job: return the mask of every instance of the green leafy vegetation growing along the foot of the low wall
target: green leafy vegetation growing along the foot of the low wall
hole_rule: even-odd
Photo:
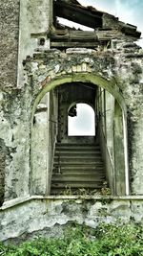
[[[143,228],[139,224],[102,224],[96,229],[71,225],[62,239],[36,239],[19,245],[0,244],[7,256],[141,256]]]

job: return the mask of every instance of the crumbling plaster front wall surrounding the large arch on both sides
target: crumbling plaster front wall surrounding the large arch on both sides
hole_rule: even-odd
[[[127,49],[133,54],[126,53]],[[24,88],[1,94],[0,138],[9,152],[5,160],[5,200],[29,194],[31,115],[36,105],[51,88],[72,81],[101,85],[111,90],[120,103],[125,99],[132,193],[143,194],[142,57],[136,46],[122,42],[117,49],[108,52],[49,50],[27,58]]]

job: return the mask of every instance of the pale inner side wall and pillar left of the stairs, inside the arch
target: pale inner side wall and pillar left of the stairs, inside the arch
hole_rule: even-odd
[[[31,195],[49,195],[57,134],[57,93],[46,93],[31,124]]]

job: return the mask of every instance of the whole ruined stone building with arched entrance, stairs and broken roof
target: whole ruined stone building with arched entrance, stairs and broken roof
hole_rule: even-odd
[[[76,0],[1,0],[0,18],[0,240],[142,221],[140,32]],[[68,132],[78,104],[92,136]]]

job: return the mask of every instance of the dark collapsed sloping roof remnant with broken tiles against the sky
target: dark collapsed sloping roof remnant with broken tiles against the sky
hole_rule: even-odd
[[[132,24],[126,24],[107,12],[100,12],[93,7],[84,7],[77,0],[54,0],[54,16],[62,17],[94,30],[116,29],[124,35],[139,38],[141,33]]]

